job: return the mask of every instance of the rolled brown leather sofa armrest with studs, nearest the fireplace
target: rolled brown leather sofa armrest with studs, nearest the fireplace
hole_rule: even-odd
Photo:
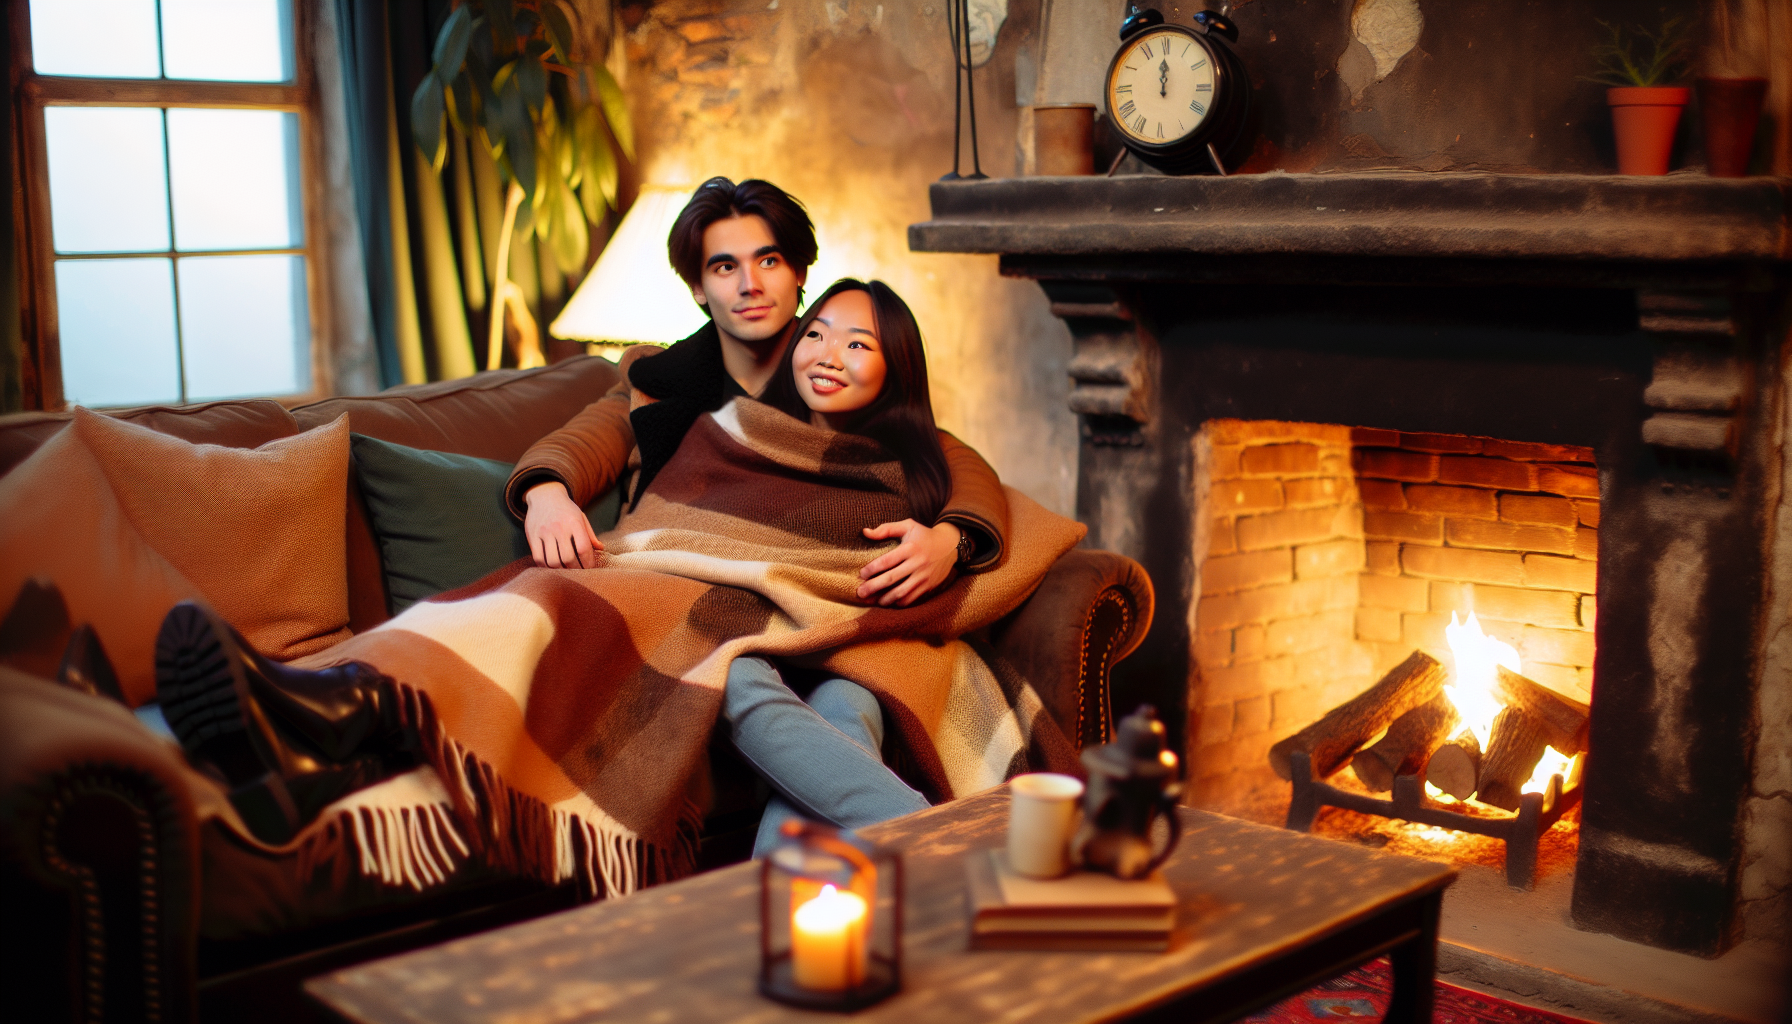
[[[1154,601],[1140,563],[1079,547],[989,629],[989,644],[1032,683],[1070,742],[1095,746],[1113,732],[1109,673],[1145,638]]]

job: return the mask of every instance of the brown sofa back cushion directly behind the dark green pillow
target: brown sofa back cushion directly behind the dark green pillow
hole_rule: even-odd
[[[382,441],[514,463],[618,380],[607,359],[586,355],[538,369],[498,369],[462,380],[392,387],[366,398],[326,398],[292,411],[299,427],[348,414],[349,429]]]

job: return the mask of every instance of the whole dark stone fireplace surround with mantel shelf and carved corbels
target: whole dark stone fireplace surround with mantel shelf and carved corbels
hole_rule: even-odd
[[[1776,628],[1762,595],[1783,561],[1765,524],[1781,515],[1788,192],[1702,174],[953,181],[932,187],[909,244],[998,255],[1070,328],[1077,518],[1159,594],[1116,699],[1186,710],[1172,728],[1188,764],[1197,742],[1263,762],[1256,746],[1305,725],[1272,710],[1249,735],[1199,739],[1208,708],[1263,705],[1215,696],[1233,683],[1195,647],[1219,592],[1208,423],[1591,452],[1604,511],[1597,615],[1579,620],[1597,694],[1573,920],[1713,956],[1742,931],[1744,807],[1769,742],[1754,699]],[[1321,685],[1292,678],[1272,708]]]

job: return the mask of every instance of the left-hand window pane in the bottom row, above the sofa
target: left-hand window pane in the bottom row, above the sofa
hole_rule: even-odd
[[[63,395],[75,405],[181,400],[167,256],[57,260]]]

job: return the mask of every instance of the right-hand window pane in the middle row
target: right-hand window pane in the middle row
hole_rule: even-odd
[[[299,117],[170,109],[174,240],[190,249],[283,249],[299,228]]]

